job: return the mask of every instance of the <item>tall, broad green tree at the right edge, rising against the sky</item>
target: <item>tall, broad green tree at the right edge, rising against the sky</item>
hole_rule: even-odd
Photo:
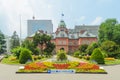
[[[116,19],[107,19],[101,23],[98,36],[100,44],[106,40],[120,44],[120,24],[118,24]]]

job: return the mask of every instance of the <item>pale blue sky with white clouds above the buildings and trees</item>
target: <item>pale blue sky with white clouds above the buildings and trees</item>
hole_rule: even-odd
[[[27,36],[27,20],[49,19],[56,31],[64,14],[67,28],[75,25],[100,25],[108,18],[120,22],[120,0],[0,0],[0,30],[8,36],[14,31]]]

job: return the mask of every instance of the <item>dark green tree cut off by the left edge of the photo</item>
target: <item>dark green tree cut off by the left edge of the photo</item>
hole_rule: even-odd
[[[6,51],[6,45],[5,45],[5,36],[4,34],[0,31],[0,54],[4,53]]]

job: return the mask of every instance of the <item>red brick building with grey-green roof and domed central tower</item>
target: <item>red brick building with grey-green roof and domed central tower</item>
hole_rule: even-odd
[[[39,30],[38,32],[43,33],[43,31],[41,30]],[[64,48],[66,52],[74,52],[82,44],[90,44],[92,42],[97,41],[97,36],[88,33],[87,30],[81,30],[79,32],[70,32],[66,28],[66,24],[63,20],[60,21],[56,32],[48,35],[51,35],[51,42],[53,42],[56,46],[55,51]],[[34,35],[28,38],[32,40],[33,36]]]

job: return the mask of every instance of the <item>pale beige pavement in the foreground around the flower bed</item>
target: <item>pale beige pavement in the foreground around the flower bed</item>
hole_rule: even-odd
[[[120,80],[120,65],[103,67],[108,74],[16,74],[19,66],[0,63],[0,80]]]

